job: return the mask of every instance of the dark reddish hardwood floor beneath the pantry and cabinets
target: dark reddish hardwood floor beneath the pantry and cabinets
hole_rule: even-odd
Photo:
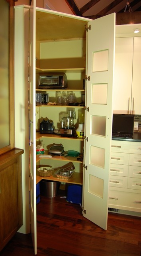
[[[16,233],[0,253],[9,255],[34,255],[30,234]],[[37,204],[37,255],[141,256],[141,218],[109,213],[105,231],[84,218],[78,204],[60,195],[41,196]]]

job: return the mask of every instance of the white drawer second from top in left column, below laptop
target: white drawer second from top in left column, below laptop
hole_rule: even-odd
[[[111,152],[111,164],[129,164],[129,154]]]

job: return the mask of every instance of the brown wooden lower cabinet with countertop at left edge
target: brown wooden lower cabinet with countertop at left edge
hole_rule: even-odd
[[[23,224],[22,154],[14,149],[0,156],[0,250]]]

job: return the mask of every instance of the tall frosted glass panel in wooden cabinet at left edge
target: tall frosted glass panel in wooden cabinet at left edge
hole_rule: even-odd
[[[0,148],[10,145],[9,3],[0,1]]]

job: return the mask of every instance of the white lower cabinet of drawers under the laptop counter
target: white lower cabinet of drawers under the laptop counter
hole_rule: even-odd
[[[141,143],[112,140],[111,151],[109,208],[141,216]]]

